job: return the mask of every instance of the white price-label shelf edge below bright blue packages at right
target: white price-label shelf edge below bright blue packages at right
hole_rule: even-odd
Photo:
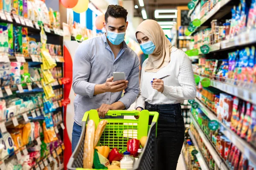
[[[205,77],[200,76],[200,79]],[[256,90],[211,79],[211,86],[256,105]]]

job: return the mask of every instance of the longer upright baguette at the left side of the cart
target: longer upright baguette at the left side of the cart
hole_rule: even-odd
[[[89,120],[86,126],[85,138],[84,138],[84,168],[92,169],[93,168],[93,156],[94,156],[94,142],[95,136],[95,123],[93,120]]]

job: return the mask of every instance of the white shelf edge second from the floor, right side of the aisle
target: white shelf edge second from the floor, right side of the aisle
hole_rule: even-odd
[[[199,135],[201,136],[204,144],[206,145],[207,149],[209,150],[209,153],[211,153],[212,158],[215,160],[217,166],[221,169],[221,170],[228,170],[229,168],[226,166],[226,164],[224,163],[224,161],[221,159],[221,157],[219,156],[219,154],[217,153],[217,151],[215,150],[215,148],[212,146],[211,142],[209,142],[207,136],[205,136],[204,132],[201,130],[200,126],[198,125],[197,121],[195,120],[194,116],[192,115],[192,113],[189,113],[189,116],[193,122],[193,124],[195,125],[195,128],[198,130]]]

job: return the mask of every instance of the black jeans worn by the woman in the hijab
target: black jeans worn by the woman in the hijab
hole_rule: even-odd
[[[180,103],[172,105],[151,105],[145,109],[157,111],[157,170],[176,170],[184,141],[184,119]],[[152,117],[149,118],[151,124]]]

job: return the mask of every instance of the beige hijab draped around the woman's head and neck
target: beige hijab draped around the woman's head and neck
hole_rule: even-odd
[[[157,72],[169,64],[171,58],[172,44],[165,36],[163,29],[155,20],[145,20],[138,26],[137,32],[145,34],[151,40],[156,48],[148,56],[148,62],[145,66],[146,72]]]

